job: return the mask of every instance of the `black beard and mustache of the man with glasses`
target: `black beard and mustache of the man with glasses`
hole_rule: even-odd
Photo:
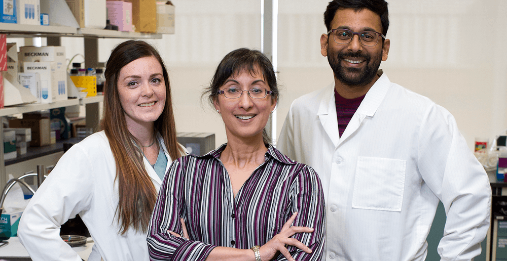
[[[365,60],[366,66],[364,68],[343,68],[341,64],[343,57],[362,58]],[[338,53],[333,56],[328,49],[328,62],[335,77],[340,82],[351,86],[364,86],[370,83],[375,78],[381,61],[382,53],[373,58],[368,54],[359,53]]]

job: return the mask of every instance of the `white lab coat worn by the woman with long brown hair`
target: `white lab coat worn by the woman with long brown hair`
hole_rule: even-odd
[[[168,160],[167,171],[172,160],[162,138],[158,138]],[[144,167],[158,192],[162,181],[146,158]],[[148,260],[145,233],[130,228],[124,235],[119,234],[115,177],[115,159],[103,131],[71,147],[21,216],[18,236],[31,259],[81,261],[59,235],[60,224],[79,214],[95,242],[90,256],[107,261]]]

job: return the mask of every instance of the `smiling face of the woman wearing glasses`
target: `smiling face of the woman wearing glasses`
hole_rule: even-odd
[[[258,73],[259,71],[256,68],[255,73],[250,73],[248,70],[233,73],[220,90],[235,87],[243,91],[252,88],[264,88],[270,91],[269,85],[265,82],[262,73]],[[243,141],[259,139],[262,142],[262,130],[268,122],[269,114],[275,109],[276,100],[269,94],[265,98],[254,99],[248,95],[248,92],[244,92],[236,99],[226,98],[220,94],[214,99],[213,104],[224,120],[228,142],[233,139]]]

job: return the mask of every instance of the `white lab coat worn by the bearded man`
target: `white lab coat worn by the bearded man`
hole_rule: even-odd
[[[317,171],[327,208],[322,260],[424,260],[439,200],[442,260],[480,254],[491,188],[454,117],[385,73],[342,137],[334,83],[295,100],[277,148]]]

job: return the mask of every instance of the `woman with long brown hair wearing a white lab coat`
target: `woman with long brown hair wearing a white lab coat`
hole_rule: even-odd
[[[148,260],[145,241],[162,179],[183,156],[169,77],[144,41],[120,43],[106,64],[102,131],[71,147],[30,200],[18,235],[33,260],[81,260],[59,236],[79,213],[88,260]]]

